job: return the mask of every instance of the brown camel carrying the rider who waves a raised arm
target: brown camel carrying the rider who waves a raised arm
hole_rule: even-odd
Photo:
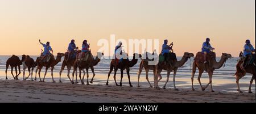
[[[38,75],[39,75],[40,82],[44,82],[44,78],[46,77],[47,70],[49,69],[49,67],[51,67],[52,82],[55,82],[53,79],[53,69],[54,69],[54,66],[57,65],[61,61],[61,57],[63,57],[63,56],[64,56],[64,53],[57,53],[57,57],[55,59],[55,57],[51,54],[51,58],[48,62],[40,62],[40,61],[38,62],[38,67],[36,69],[36,73],[39,70]],[[41,77],[40,77],[40,73],[44,66],[46,67],[46,72],[44,73],[44,78],[42,81]]]

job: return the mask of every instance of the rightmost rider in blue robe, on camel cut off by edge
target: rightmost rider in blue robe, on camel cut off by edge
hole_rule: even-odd
[[[250,40],[245,41],[245,46],[243,46],[243,64],[242,64],[242,70],[245,71],[245,67],[248,63],[248,61],[251,58],[252,52],[255,52],[255,49],[253,48],[253,45],[251,45]]]

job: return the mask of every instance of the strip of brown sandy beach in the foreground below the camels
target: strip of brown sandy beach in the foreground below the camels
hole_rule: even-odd
[[[255,93],[0,80],[0,102],[255,102]]]

